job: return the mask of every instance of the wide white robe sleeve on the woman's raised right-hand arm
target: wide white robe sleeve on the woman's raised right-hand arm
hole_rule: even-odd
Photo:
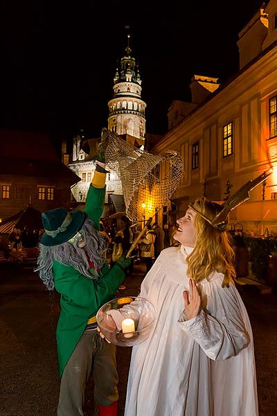
[[[230,288],[222,288],[221,284],[222,279],[215,279],[202,285],[206,309],[190,320],[183,312],[178,320],[181,329],[199,344],[204,353],[218,361],[238,355],[250,341],[235,287],[231,284]],[[206,293],[203,293],[203,288]]]

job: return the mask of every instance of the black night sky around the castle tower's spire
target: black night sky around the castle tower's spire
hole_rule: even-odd
[[[148,105],[146,131],[163,134],[172,101],[190,101],[193,74],[224,83],[238,71],[238,33],[262,1],[0,4],[0,128],[48,132],[60,142],[79,128],[98,137],[107,126],[126,25]]]

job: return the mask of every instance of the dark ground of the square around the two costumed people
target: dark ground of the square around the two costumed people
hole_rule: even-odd
[[[144,266],[136,264],[117,296],[138,295],[144,272]],[[277,293],[261,295],[251,286],[238,289],[254,334],[260,416],[275,416]],[[59,311],[57,295],[46,291],[32,267],[0,264],[0,416],[55,415],[60,387],[55,346]],[[124,414],[131,350],[117,350],[118,416]],[[84,408],[87,416],[93,415],[92,392],[91,378]]]

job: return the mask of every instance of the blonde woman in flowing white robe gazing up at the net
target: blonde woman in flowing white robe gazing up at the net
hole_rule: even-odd
[[[197,201],[207,218],[220,209]],[[157,321],[132,349],[125,416],[258,415],[253,336],[232,279],[233,251],[226,232],[204,218],[190,207],[177,220],[181,248],[163,250],[141,285]],[[135,302],[125,307],[136,318]],[[121,329],[124,309],[111,315]]]

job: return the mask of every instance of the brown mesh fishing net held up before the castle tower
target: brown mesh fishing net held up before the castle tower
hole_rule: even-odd
[[[120,178],[126,215],[133,222],[148,218],[170,203],[184,170],[177,152],[152,155],[109,130],[102,135],[99,146],[105,153],[106,165]]]

